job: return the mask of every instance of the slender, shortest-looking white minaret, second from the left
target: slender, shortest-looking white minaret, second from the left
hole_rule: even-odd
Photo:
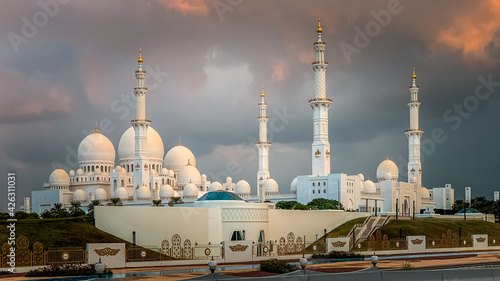
[[[264,181],[270,177],[269,173],[269,148],[271,143],[267,141],[267,122],[269,117],[267,117],[267,103],[265,101],[266,95],[264,94],[264,87],[262,87],[262,92],[260,94],[259,103],[259,141],[255,143],[257,149],[259,150],[259,171],[257,172],[257,196],[261,198],[261,201],[265,200],[264,193]]]

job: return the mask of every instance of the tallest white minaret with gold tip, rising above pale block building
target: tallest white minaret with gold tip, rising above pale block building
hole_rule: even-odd
[[[325,61],[326,43],[321,40],[321,22],[318,18],[318,41],[314,42],[316,60],[312,63],[314,71],[314,98],[309,100],[313,109],[312,143],[312,175],[324,176],[330,174],[330,142],[328,141],[328,109],[332,100],[326,97],[326,69]]]

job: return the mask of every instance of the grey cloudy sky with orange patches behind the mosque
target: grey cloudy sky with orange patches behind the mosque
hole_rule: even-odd
[[[18,200],[60,163],[75,169],[94,124],[118,145],[134,117],[139,48],[147,117],[165,151],[183,145],[209,180],[255,192],[264,86],[280,191],[311,171],[317,17],[327,43],[332,172],[375,178],[386,154],[406,179],[411,69],[425,130],[423,182],[493,197],[500,110],[500,2],[41,0],[0,10],[0,170]],[[499,81],[499,82],[496,82]],[[117,159],[118,160],[118,159]],[[6,185],[4,185],[6,186]],[[5,197],[1,197],[5,198]],[[5,202],[4,202],[5,201]],[[0,202],[5,209],[6,199]]]

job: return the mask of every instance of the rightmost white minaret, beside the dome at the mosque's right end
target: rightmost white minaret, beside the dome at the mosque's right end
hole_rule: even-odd
[[[422,164],[420,163],[420,138],[424,130],[418,127],[418,108],[420,101],[418,100],[418,86],[415,84],[417,75],[415,75],[415,68],[413,68],[413,75],[411,76],[412,85],[410,86],[410,101],[408,107],[410,108],[410,129],[406,130],[408,137],[408,182],[411,182],[412,177],[417,178],[418,186],[422,185]]]

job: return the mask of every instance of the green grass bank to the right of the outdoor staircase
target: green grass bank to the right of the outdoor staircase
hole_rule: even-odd
[[[415,220],[392,220],[379,230],[389,238],[401,236],[425,235],[427,239],[440,239],[448,229],[452,233],[462,228],[462,237],[470,238],[472,234],[488,234],[490,237],[500,237],[500,224],[479,220],[445,220],[436,218],[417,218]]]

